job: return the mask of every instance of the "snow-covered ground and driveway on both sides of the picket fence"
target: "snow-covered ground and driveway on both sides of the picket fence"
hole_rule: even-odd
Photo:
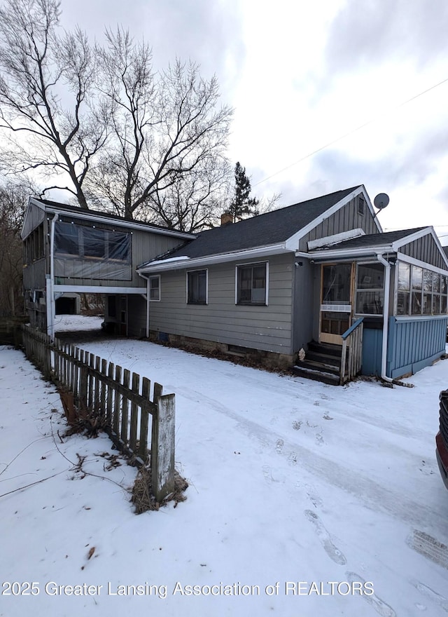
[[[448,361],[414,388],[337,388],[144,341],[80,346],[176,393],[188,499],[134,515],[134,468],[105,437],[65,438],[55,388],[0,348],[1,616],[447,615]]]

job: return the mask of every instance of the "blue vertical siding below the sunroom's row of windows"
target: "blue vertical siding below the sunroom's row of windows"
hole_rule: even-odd
[[[447,317],[400,320],[389,318],[388,377],[415,373],[445,352]]]

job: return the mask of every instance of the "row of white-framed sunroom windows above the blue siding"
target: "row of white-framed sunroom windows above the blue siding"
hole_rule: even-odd
[[[447,276],[398,262],[397,315],[446,315],[447,292]]]

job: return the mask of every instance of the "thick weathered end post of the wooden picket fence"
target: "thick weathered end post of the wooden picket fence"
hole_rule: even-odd
[[[155,499],[160,503],[174,491],[174,394],[158,397],[157,407],[157,414],[153,416],[151,480]]]

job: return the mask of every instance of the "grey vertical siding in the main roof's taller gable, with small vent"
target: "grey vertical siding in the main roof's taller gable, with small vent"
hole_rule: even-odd
[[[364,204],[364,214],[360,215],[358,213],[358,197],[355,197],[301,238],[299,250],[307,251],[309,240],[317,240],[318,238],[325,238],[326,236],[333,236],[336,233],[358,228],[363,229],[366,234],[379,233],[367,202]]]

